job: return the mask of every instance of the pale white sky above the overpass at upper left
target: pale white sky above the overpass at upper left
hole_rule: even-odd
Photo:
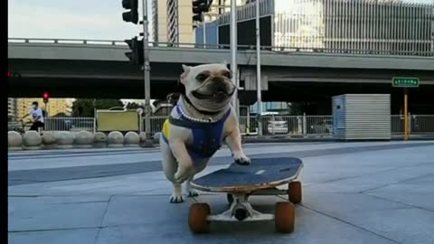
[[[8,36],[125,40],[143,32],[124,22],[123,12],[122,0],[8,0]]]

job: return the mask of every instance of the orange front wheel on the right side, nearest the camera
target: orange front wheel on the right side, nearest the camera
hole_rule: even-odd
[[[291,233],[294,231],[294,225],[296,222],[296,210],[294,204],[291,202],[276,203],[274,222],[278,232]]]

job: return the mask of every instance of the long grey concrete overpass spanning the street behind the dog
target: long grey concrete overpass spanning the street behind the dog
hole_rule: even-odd
[[[143,71],[125,56],[128,47],[122,41],[47,40],[11,38],[8,41],[9,71],[21,78],[10,80],[10,96],[38,97],[49,89],[54,97],[143,98]],[[420,98],[434,92],[434,53],[428,56],[378,55],[369,53],[261,52],[263,80],[267,83],[264,100],[323,100],[347,92],[401,92],[391,89],[393,76],[420,78]],[[168,47],[153,43],[149,47],[151,92],[164,99],[176,87],[181,64],[227,61],[230,51],[195,44]],[[241,87],[254,88],[256,52],[238,52]],[[254,91],[245,91],[241,99],[250,103]]]

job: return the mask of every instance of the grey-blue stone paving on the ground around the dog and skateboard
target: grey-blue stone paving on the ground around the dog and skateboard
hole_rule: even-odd
[[[193,235],[190,203],[209,202],[218,212],[226,197],[169,203],[156,150],[17,152],[8,163],[9,243],[434,243],[434,142],[264,144],[246,151],[302,157],[295,232],[276,233],[265,221],[213,223],[212,233]],[[227,155],[219,152],[203,174],[227,166]],[[42,183],[28,180],[35,175]],[[272,212],[286,197],[251,200]]]

